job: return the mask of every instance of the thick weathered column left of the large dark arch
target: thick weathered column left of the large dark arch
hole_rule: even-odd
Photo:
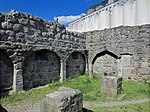
[[[22,62],[14,64],[13,91],[23,91]]]

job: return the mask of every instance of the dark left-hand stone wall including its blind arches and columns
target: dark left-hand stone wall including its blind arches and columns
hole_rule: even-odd
[[[0,13],[0,50],[6,52],[12,63],[13,70],[8,74],[14,91],[65,80],[70,75],[66,75],[66,61],[73,52],[78,51],[87,60],[84,34],[68,32],[64,25],[17,11]],[[3,56],[3,52],[0,53]],[[83,62],[82,58],[78,61],[80,59]],[[6,69],[2,68],[2,58],[0,62],[3,73]],[[11,66],[7,62],[5,65]],[[81,73],[80,69],[72,69],[72,72]],[[1,77],[8,79],[4,73]]]

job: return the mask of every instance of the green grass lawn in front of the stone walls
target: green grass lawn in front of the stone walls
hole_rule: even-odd
[[[100,78],[99,77],[89,78],[88,76],[84,75],[73,79],[69,79],[64,83],[54,82],[43,88],[32,89],[27,92],[14,93],[11,96],[1,98],[0,104],[3,106],[8,106],[8,105],[18,106],[18,104],[24,105],[24,102],[29,102],[30,105],[33,105],[39,102],[40,100],[42,100],[45,97],[45,95],[57,90],[61,86],[71,87],[82,91],[84,102],[101,103],[101,102],[111,102],[117,100],[123,101],[123,100],[133,100],[133,99],[142,99],[142,98],[150,97],[149,84],[137,83],[130,80],[123,81],[123,91],[117,97],[113,97],[110,95],[102,95],[100,94]],[[144,106],[146,106],[145,108],[147,109],[148,104],[146,103]],[[111,107],[111,108],[115,109],[117,107]],[[126,110],[127,107],[128,106],[119,106],[118,108]],[[108,109],[108,112],[110,112],[109,110],[111,110],[111,108]],[[129,106],[129,108],[132,108],[132,110],[143,108],[143,104],[141,104],[140,106],[138,105],[131,106],[131,107]],[[98,112],[97,109],[98,108],[92,108],[94,112]],[[107,110],[107,108],[106,109],[104,108],[104,110]],[[118,110],[118,112],[121,111]],[[127,112],[127,111],[123,111],[123,112]]]

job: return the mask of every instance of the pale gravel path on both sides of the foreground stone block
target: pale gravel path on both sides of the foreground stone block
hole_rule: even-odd
[[[141,104],[141,103],[150,103],[150,98],[139,99],[139,100],[131,100],[131,101],[114,101],[114,102],[104,102],[104,103],[89,103],[84,102],[84,108],[92,108],[92,107],[112,107],[112,106],[125,106],[125,105],[133,105],[133,104]],[[40,112],[41,103],[37,103],[33,106],[30,103],[25,104],[24,106],[17,107],[4,107],[7,111],[4,112]],[[1,110],[0,110],[1,112]],[[2,111],[3,112],[3,111]]]

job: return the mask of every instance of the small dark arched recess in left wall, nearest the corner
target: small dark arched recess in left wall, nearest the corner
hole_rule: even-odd
[[[83,75],[85,73],[85,57],[82,53],[73,52],[66,62],[66,78]]]

